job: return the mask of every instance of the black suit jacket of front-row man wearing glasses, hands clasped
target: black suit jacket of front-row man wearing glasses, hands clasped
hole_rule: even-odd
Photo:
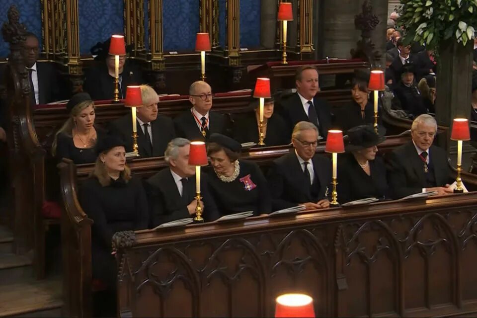
[[[312,198],[306,188],[305,173],[295,152],[273,160],[268,171],[273,210],[290,208],[306,202],[316,203],[326,198],[327,188],[331,183],[331,162],[319,155],[315,155],[312,161],[315,177],[318,178],[320,185],[317,198]]]

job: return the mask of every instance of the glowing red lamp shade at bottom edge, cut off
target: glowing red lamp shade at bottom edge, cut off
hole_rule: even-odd
[[[285,294],[277,297],[275,317],[315,317],[313,298],[305,294]]]

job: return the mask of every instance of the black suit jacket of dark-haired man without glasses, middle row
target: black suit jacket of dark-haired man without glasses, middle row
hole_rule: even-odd
[[[319,135],[326,140],[328,130],[331,129],[330,107],[325,99],[317,98],[316,96],[313,98],[313,105],[317,112]],[[309,121],[298,93],[292,94],[287,100],[283,101],[278,111],[288,123],[289,136],[292,135],[293,128],[298,122]]]

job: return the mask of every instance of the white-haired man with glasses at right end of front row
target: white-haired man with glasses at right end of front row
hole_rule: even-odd
[[[395,198],[414,193],[437,191],[450,194],[451,174],[446,152],[432,145],[437,132],[434,117],[418,116],[412,122],[412,141],[395,149],[387,156],[388,181]]]

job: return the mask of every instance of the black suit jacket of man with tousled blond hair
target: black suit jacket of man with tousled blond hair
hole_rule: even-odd
[[[133,119],[131,113],[114,120],[109,127],[110,131],[118,134],[126,142],[126,151],[133,151]],[[151,122],[151,131],[153,135],[153,152],[151,153],[146,144],[146,136],[142,127],[137,123],[138,129],[138,151],[139,155],[145,157],[161,157],[167,148],[169,141],[175,138],[174,125],[168,117],[158,115],[158,118]]]

